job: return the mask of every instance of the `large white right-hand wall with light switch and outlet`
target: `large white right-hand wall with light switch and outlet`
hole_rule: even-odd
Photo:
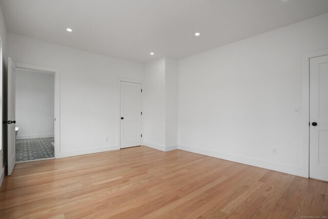
[[[302,54],[325,48],[328,14],[180,59],[179,148],[308,176]]]

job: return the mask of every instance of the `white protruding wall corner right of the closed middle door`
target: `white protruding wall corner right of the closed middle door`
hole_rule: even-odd
[[[143,89],[144,145],[162,151],[177,148],[177,59],[146,64]]]

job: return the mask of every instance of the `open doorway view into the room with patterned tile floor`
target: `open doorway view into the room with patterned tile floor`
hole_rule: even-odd
[[[16,162],[55,157],[55,73],[16,67]]]

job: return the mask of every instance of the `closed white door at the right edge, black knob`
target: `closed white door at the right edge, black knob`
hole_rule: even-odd
[[[328,181],[328,55],[310,58],[310,177]]]

